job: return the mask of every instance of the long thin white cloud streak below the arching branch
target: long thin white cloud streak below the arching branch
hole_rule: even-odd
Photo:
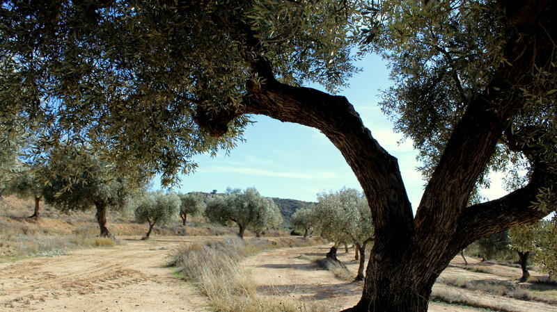
[[[228,167],[228,166],[210,166],[199,168],[198,172],[206,173],[237,173],[237,174],[251,174],[256,176],[274,176],[278,178],[290,178],[290,179],[307,179],[307,180],[317,180],[317,179],[336,179],[338,174],[334,172],[285,172],[285,171],[272,171],[258,168],[248,168],[248,167]]]

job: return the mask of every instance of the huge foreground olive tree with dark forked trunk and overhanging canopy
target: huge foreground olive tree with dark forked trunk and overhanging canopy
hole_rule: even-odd
[[[556,1],[7,0],[0,10],[0,118],[38,124],[44,146],[88,142],[120,172],[141,164],[167,184],[195,167],[191,156],[242,140],[253,114],[324,133],[375,229],[348,311],[426,311],[460,250],[554,209]],[[393,70],[384,110],[425,152],[415,214],[397,159],[334,95],[366,49]],[[526,183],[469,205],[501,155],[526,160]]]

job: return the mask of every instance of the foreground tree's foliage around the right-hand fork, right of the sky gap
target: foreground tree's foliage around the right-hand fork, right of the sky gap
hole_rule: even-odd
[[[420,169],[427,177],[469,101],[489,88],[500,67],[512,65],[514,60],[503,56],[509,33],[496,1],[429,1],[427,6],[422,2],[379,1],[379,13],[369,16],[366,24],[377,26],[370,31],[369,49],[389,60],[394,83],[384,90],[380,105],[394,120],[395,129],[418,149],[423,162]],[[489,187],[490,171],[505,172],[512,190],[526,180],[532,159],[513,151],[510,136],[519,145],[536,145],[535,157],[557,163],[557,71],[554,63],[544,66],[532,68],[531,76],[522,77],[521,81],[532,83],[492,90],[498,92],[494,109],[505,101],[526,105],[496,145],[477,186]],[[474,192],[471,202],[480,200]],[[547,200],[539,203],[540,208],[545,207],[543,202]]]

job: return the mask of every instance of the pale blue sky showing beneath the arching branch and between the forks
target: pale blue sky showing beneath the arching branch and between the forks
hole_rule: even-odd
[[[377,106],[379,90],[389,87],[389,70],[375,55],[366,56],[356,65],[362,67],[363,72],[352,77],[350,87],[340,95],[354,105],[372,136],[398,158],[410,202],[415,208],[423,192],[423,180],[416,171],[419,165],[416,151],[409,140],[398,144],[402,136],[393,132],[392,122]],[[244,133],[246,142],[240,143],[228,156],[197,156],[198,170],[182,176],[181,187],[174,191],[223,192],[228,186],[242,189],[255,186],[266,197],[315,202],[317,192],[344,186],[361,190],[340,152],[320,131],[266,116],[254,116],[253,120],[256,123],[248,126]],[[498,196],[501,191],[492,188],[486,195]]]

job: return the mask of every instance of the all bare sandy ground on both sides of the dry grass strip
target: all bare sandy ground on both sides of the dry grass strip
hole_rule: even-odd
[[[166,256],[181,243],[221,239],[222,237],[162,236],[143,241],[125,240],[125,245],[105,249],[82,249],[65,256],[31,258],[15,263],[0,263],[1,311],[212,311],[207,299],[164,268]],[[353,306],[361,295],[361,283],[337,279],[311,261],[327,252],[328,246],[274,249],[251,256],[242,262],[249,270],[258,291],[273,296],[294,297],[317,301],[330,307],[329,311]],[[357,263],[353,249],[339,258],[355,276]],[[469,259],[471,266],[477,259]],[[462,259],[455,258],[441,277],[461,277],[474,280],[512,280],[519,269],[489,265],[491,274],[470,272],[462,268]],[[533,275],[538,274],[533,272]],[[557,290],[548,290],[556,293]],[[505,311],[557,312],[557,307],[543,302],[528,302],[476,290],[436,284],[434,291],[478,299]],[[277,295],[278,294],[278,295]],[[547,294],[545,294],[547,295]],[[465,306],[434,302],[434,312],[480,311]],[[483,310],[485,311],[485,310]]]

